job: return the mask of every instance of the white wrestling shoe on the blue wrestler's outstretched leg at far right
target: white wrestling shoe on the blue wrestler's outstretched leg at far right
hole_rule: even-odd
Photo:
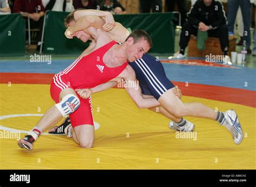
[[[224,119],[221,121],[220,125],[227,128],[230,131],[234,143],[239,145],[242,142],[243,134],[242,127],[239,123],[238,116],[233,110],[228,110],[224,113]]]

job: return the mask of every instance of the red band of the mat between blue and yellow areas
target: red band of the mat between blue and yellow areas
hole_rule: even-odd
[[[54,74],[0,73],[0,83],[50,84],[53,76]],[[214,99],[256,107],[254,100],[256,98],[256,91],[194,83],[189,83],[187,87],[183,82],[173,83],[178,85],[185,96]]]

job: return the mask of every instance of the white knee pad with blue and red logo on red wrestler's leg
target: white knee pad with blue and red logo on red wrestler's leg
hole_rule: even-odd
[[[68,117],[69,114],[75,112],[80,106],[80,100],[76,95],[69,94],[62,98],[60,103],[55,105],[62,113],[63,117]]]

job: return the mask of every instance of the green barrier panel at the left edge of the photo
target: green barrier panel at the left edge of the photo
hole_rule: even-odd
[[[0,56],[26,53],[26,25],[20,13],[0,15]]]

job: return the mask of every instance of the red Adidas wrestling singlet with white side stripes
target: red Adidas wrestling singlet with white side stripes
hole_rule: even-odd
[[[79,57],[64,71],[60,71],[53,77],[51,83],[51,97],[59,103],[59,94],[65,88],[73,90],[80,88],[94,88],[116,78],[128,65],[128,61],[122,66],[109,68],[103,62],[104,54],[116,45],[117,42],[111,41],[92,53]],[[80,100],[79,108],[71,113],[70,120],[73,127],[79,125],[93,125],[91,97]]]

